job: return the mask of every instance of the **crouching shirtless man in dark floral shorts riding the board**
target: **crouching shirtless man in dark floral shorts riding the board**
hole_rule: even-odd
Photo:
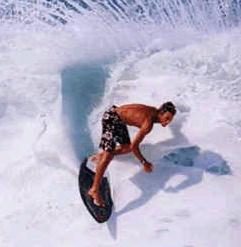
[[[92,197],[96,205],[104,206],[99,186],[108,164],[115,155],[133,152],[143,165],[144,171],[152,171],[153,165],[141,154],[139,145],[144,137],[150,133],[154,123],[159,123],[166,127],[172,121],[175,114],[176,108],[172,102],[166,102],[160,108],[143,104],[112,106],[104,112],[102,118],[102,137],[99,145],[103,151],[91,157],[91,160],[97,166],[96,175],[88,195]],[[127,125],[139,128],[132,142],[130,141]],[[118,146],[116,146],[117,143],[119,144]]]

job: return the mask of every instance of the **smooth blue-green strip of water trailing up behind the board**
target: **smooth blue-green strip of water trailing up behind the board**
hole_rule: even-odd
[[[100,102],[108,75],[107,63],[78,64],[61,73],[63,119],[79,160],[93,152],[88,115]]]

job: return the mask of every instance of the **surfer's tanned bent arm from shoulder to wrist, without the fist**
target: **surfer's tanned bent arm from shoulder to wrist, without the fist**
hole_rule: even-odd
[[[143,123],[143,125],[141,126],[140,130],[137,132],[136,136],[133,139],[133,142],[131,144],[131,150],[133,152],[133,154],[136,156],[136,158],[138,160],[140,160],[140,162],[142,164],[146,163],[146,159],[144,158],[144,156],[141,154],[140,149],[139,149],[139,144],[142,142],[142,140],[144,139],[144,137],[150,133],[150,131],[152,130],[153,124],[146,121]]]

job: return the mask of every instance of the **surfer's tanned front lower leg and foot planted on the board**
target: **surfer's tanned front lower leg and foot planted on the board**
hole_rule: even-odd
[[[88,194],[94,199],[94,203],[98,206],[104,206],[104,202],[100,196],[100,183],[104,175],[104,172],[113,159],[114,155],[111,152],[103,151],[101,159],[96,167],[96,173],[94,182],[88,192]]]

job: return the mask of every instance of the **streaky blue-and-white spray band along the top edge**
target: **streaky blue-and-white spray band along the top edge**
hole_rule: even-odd
[[[236,0],[7,0],[0,3],[2,22],[26,24],[59,25],[94,16],[106,27],[119,22],[208,31],[237,26],[240,13],[241,3]]]

